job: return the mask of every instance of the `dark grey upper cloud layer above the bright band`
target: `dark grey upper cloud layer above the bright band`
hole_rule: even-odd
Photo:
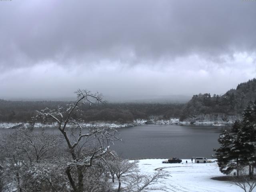
[[[53,61],[137,63],[256,50],[256,2],[110,0],[1,2],[3,68]]]

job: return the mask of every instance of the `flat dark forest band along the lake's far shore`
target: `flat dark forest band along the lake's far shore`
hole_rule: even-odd
[[[0,100],[0,122],[29,122],[36,110],[46,107],[54,109],[66,106],[70,102],[63,101],[6,101]],[[135,119],[179,118],[184,104],[159,103],[104,103],[83,106],[85,122],[111,121],[132,122]]]

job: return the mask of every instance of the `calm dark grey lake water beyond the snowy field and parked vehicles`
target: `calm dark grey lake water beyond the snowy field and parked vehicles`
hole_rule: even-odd
[[[191,158],[202,156],[212,158],[213,148],[218,148],[221,126],[202,125],[140,125],[118,128],[122,142],[110,146],[123,158]],[[59,133],[45,128],[52,134]],[[13,130],[0,129],[0,132]]]

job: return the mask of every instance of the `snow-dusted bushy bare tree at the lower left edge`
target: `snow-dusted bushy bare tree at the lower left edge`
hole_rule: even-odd
[[[1,180],[5,179],[10,191],[27,191],[26,174],[39,162],[52,159],[58,154],[58,137],[41,132],[34,134],[19,129],[8,135],[2,135],[0,142]],[[48,183],[49,184],[49,183]]]

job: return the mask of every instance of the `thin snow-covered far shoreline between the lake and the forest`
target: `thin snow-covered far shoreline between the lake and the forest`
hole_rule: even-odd
[[[227,124],[232,124],[233,122],[193,122],[193,124],[202,124],[202,125],[212,125],[212,126],[225,126]],[[118,123],[110,123],[110,122],[90,122],[90,123],[83,123],[83,127],[108,127],[108,128],[124,128],[124,127],[132,127],[132,126],[138,126],[138,125],[145,125],[145,124],[154,124],[154,125],[182,125],[182,124],[191,124],[191,122],[182,122],[178,118],[172,118],[170,120],[145,120],[145,119],[137,119],[134,120],[132,123],[124,123],[124,124],[118,124]],[[0,128],[18,128],[18,127],[28,127],[28,123],[7,123],[2,122],[0,123]],[[42,123],[36,123],[34,125],[35,128],[40,127],[56,127],[57,124],[42,124]]]

